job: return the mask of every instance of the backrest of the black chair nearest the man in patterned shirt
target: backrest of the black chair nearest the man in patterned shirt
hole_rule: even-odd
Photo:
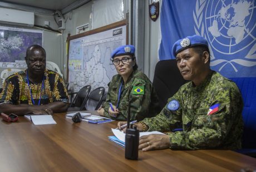
[[[70,107],[80,107],[83,108],[84,103],[86,102],[88,95],[91,90],[91,85],[86,85],[82,87],[76,94],[73,102],[70,104]]]

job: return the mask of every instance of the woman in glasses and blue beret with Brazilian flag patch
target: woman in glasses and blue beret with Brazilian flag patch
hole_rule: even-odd
[[[149,78],[137,70],[134,53],[133,45],[123,45],[112,52],[112,62],[119,74],[108,84],[109,92],[99,114],[114,120],[127,120],[129,101],[130,120],[140,121],[160,112],[156,92]]]

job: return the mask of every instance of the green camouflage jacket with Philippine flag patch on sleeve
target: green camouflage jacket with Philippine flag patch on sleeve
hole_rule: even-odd
[[[171,149],[239,149],[243,133],[243,100],[237,85],[211,72],[197,87],[186,83],[155,118],[143,122],[149,130],[168,133]],[[212,110],[211,110],[212,109]]]

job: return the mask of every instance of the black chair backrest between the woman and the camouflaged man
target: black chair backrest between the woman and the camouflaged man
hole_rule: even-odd
[[[159,98],[160,108],[163,109],[167,101],[185,84],[175,59],[160,60],[155,67],[153,86]]]

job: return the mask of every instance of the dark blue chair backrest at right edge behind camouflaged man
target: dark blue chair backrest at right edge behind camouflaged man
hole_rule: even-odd
[[[230,78],[243,97],[244,133],[242,148],[256,149],[256,78]]]

